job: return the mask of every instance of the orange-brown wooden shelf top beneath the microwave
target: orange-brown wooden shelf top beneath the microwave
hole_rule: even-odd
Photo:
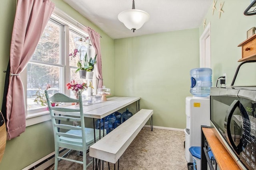
[[[236,161],[230,156],[216,135],[214,135],[212,128],[202,127],[202,131],[206,140],[208,141],[208,144],[210,145],[219,168],[221,170],[240,170],[238,164],[236,164]]]

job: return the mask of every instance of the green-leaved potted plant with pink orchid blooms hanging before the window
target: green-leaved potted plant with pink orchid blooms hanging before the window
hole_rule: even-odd
[[[73,53],[70,53],[69,56],[72,57],[76,57],[77,53],[80,53],[80,57],[81,57],[81,50],[78,51],[78,49],[74,49]],[[93,70],[94,70],[94,64],[96,63],[96,57],[97,54],[95,55],[94,59],[92,59],[92,57],[90,57],[90,59],[88,59],[87,57],[87,53],[84,55],[83,60],[79,60],[77,62],[77,70],[76,73],[79,71],[80,74],[80,78],[88,78],[88,79],[92,79],[93,77]]]

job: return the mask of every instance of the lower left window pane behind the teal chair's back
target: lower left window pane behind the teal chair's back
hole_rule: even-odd
[[[36,99],[36,92],[38,90],[40,94],[44,94],[47,85],[49,84],[49,96],[60,92],[60,73],[61,68],[57,66],[46,66],[42,64],[29,63],[27,66],[27,108],[38,109],[42,108],[37,102],[34,102]],[[44,106],[46,107],[46,106]]]

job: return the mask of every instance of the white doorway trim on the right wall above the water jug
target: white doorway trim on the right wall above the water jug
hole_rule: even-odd
[[[210,22],[204,29],[204,32],[202,33],[202,35],[200,36],[200,39],[199,39],[200,67],[206,67],[206,45],[205,44],[206,44],[206,39],[208,37],[211,39],[211,23]],[[210,54],[210,60],[211,60],[211,54]],[[210,61],[210,63],[211,63],[211,61]]]

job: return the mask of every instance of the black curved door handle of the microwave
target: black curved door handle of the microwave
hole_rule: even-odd
[[[240,154],[241,150],[240,150],[240,145],[241,145],[241,140],[240,143],[238,145],[238,147],[236,147],[233,139],[232,139],[232,135],[231,135],[231,131],[230,131],[230,123],[231,123],[231,119],[232,119],[232,115],[236,109],[236,107],[239,108],[240,106],[240,102],[239,100],[234,100],[234,102],[231,104],[230,106],[230,112],[228,113],[228,119],[227,119],[227,135],[228,135],[228,141],[230,143],[230,145],[232,146],[232,148],[235,150],[236,154]]]

